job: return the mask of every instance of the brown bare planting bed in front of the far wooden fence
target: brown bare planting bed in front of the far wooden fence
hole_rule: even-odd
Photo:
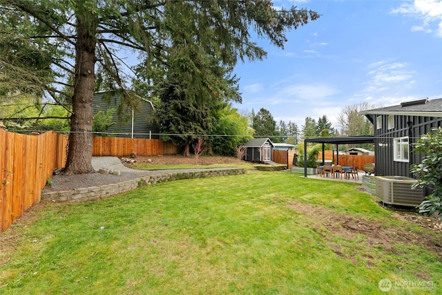
[[[129,158],[131,159],[131,158]],[[132,160],[132,159],[131,159]],[[139,155],[134,158],[136,162],[124,163],[125,166],[131,167],[137,164],[164,164],[164,165],[180,165],[180,164],[197,164],[197,159],[194,155],[191,157],[184,157],[182,155],[154,155],[146,156]],[[223,156],[200,156],[198,157],[198,165],[213,165],[213,164],[238,164],[238,159],[235,157],[223,157]]]

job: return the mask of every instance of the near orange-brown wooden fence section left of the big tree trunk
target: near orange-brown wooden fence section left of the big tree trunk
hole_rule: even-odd
[[[32,204],[53,171],[66,163],[68,137],[48,131],[23,135],[0,129],[0,232]]]

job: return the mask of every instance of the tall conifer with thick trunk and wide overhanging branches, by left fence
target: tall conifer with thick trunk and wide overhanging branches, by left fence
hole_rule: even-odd
[[[142,66],[155,69],[155,77],[165,73],[170,62],[180,65],[173,70],[180,71],[182,77],[199,71],[202,77],[195,79],[199,84],[188,91],[199,93],[200,88],[211,88],[213,97],[220,97],[216,79],[205,78],[218,75],[204,68],[198,53],[215,53],[225,66],[234,66],[238,59],[262,59],[266,53],[251,41],[250,28],[258,37],[283,47],[287,30],[319,17],[316,12],[296,7],[277,10],[269,0],[0,0],[0,15],[10,14],[45,32],[37,34],[17,26],[9,31],[12,39],[26,39],[29,46],[44,50],[53,72],[66,74],[59,75],[61,79],[67,73],[74,74],[66,173],[93,171],[95,69],[101,71],[108,88],[125,93],[128,71],[124,70],[126,61],[119,59],[122,49],[133,50]],[[0,21],[7,22],[5,19],[8,17]],[[59,52],[49,50],[54,46]],[[52,86],[63,82],[56,80],[57,75],[51,78],[48,84]],[[149,77],[144,78],[151,82]]]

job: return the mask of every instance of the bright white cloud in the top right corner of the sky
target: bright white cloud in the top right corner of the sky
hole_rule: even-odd
[[[412,26],[412,32],[433,32],[442,37],[442,1],[441,0],[414,0],[412,3],[405,3],[399,8],[391,10],[391,13],[398,15],[407,15],[421,19],[420,26]],[[438,23],[433,28],[433,23]]]

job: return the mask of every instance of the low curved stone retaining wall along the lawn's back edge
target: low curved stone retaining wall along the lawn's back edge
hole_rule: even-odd
[[[53,202],[83,202],[90,200],[99,200],[115,196],[119,193],[125,193],[138,187],[147,185],[169,182],[173,180],[184,180],[191,178],[209,178],[214,176],[240,175],[245,174],[244,168],[220,169],[208,171],[191,171],[191,172],[173,172],[158,175],[148,175],[133,180],[126,180],[115,184],[105,184],[99,187],[86,187],[83,189],[71,189],[69,191],[51,191],[43,193],[41,198],[44,200],[52,200]]]

